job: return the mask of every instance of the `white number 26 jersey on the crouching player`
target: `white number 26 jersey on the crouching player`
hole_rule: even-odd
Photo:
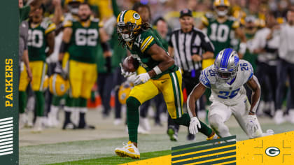
[[[211,89],[210,101],[218,101],[228,106],[235,105],[239,101],[246,101],[246,89],[244,84],[253,76],[253,68],[246,60],[239,60],[237,76],[231,82],[221,82],[216,77],[214,65],[204,69],[200,75],[200,82]]]

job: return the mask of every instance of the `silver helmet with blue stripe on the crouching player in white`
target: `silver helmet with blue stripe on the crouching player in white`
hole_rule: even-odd
[[[214,61],[216,76],[219,80],[230,81],[237,75],[239,66],[239,56],[231,48],[221,50]]]

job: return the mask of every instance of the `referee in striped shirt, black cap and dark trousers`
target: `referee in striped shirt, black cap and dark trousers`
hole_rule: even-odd
[[[169,41],[169,54],[174,57],[176,65],[183,70],[183,87],[186,87],[187,95],[199,82],[198,78],[202,70],[202,59],[214,57],[214,45],[206,34],[193,26],[192,11],[183,9],[180,12],[181,29],[172,31]],[[199,106],[196,106],[196,110]],[[196,111],[197,112],[197,111]],[[168,134],[172,141],[176,141],[179,126],[172,124],[169,118]],[[174,135],[172,135],[174,132]],[[188,140],[194,140],[195,136],[188,135]]]

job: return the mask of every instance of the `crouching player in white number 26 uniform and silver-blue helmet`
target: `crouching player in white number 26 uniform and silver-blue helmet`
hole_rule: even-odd
[[[248,103],[244,84],[252,90],[251,104]],[[218,136],[231,136],[225,125],[231,115],[235,116],[249,138],[274,134],[270,129],[267,130],[267,133],[262,133],[255,116],[255,110],[260,100],[260,85],[253,75],[251,64],[246,60],[239,59],[237,52],[231,48],[222,50],[218,53],[214,64],[202,71],[200,83],[188,96],[190,117],[196,117],[195,101],[204,94],[207,88],[211,89],[209,99],[212,102],[208,114],[209,124]]]

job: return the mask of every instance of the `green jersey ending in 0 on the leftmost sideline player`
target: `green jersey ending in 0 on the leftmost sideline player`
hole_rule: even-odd
[[[55,24],[51,23],[48,20],[44,20],[41,24],[38,24],[36,27],[32,27],[29,24],[28,31],[28,51],[29,51],[29,61],[43,61],[46,59],[45,49],[47,48],[46,37],[52,31],[56,29]]]

